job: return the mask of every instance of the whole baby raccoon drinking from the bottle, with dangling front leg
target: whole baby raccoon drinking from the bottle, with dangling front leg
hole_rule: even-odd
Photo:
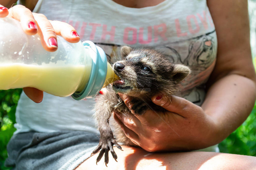
[[[187,66],[172,63],[163,54],[151,49],[133,50],[124,46],[121,48],[121,56],[124,60],[113,64],[113,70],[121,80],[113,83],[114,92],[107,91],[104,95],[100,95],[95,105],[94,116],[99,126],[100,141],[92,155],[101,150],[96,162],[98,163],[105,153],[106,166],[109,161],[109,150],[115,161],[117,159],[113,150],[114,144],[120,150],[122,150],[121,146],[117,142],[135,146],[117,123],[113,122],[115,123],[114,136],[116,140],[111,131],[109,120],[112,112],[122,112],[123,114],[130,112],[117,93],[132,96],[131,103],[134,104],[132,107],[134,114],[142,115],[147,109],[165,112],[166,110],[154,104],[151,98],[160,93],[167,96],[177,95],[179,82],[190,73]]]

